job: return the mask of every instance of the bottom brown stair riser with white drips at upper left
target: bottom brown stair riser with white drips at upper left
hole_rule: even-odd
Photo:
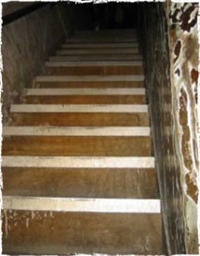
[[[160,214],[11,210],[2,224],[7,253],[161,254]]]

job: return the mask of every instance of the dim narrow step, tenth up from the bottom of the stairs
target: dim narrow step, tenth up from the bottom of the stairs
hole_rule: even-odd
[[[63,48],[129,48],[139,47],[138,43],[65,43]]]

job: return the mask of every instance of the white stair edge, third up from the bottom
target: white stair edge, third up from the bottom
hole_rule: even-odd
[[[3,127],[3,136],[150,136],[150,128]]]

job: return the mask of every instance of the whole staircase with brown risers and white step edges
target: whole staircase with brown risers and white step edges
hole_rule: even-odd
[[[77,32],[3,128],[3,251],[162,254],[133,30]]]

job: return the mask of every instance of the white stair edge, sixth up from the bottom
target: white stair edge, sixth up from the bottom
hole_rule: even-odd
[[[143,74],[128,75],[38,75],[35,82],[132,82],[144,81]]]

